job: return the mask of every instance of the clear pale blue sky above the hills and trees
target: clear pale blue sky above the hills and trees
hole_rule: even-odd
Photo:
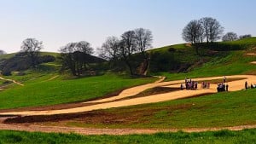
[[[43,51],[82,40],[97,48],[139,27],[151,30],[160,47],[183,43],[183,27],[206,16],[225,32],[255,36],[255,6],[254,0],[0,0],[0,49],[17,52],[27,37],[43,41]]]

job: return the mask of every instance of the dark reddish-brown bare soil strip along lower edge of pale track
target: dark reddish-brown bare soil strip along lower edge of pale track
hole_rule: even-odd
[[[202,95],[197,95],[202,96]],[[173,112],[176,110],[187,110],[193,107],[193,103],[179,104],[166,107],[147,108],[139,107],[137,109],[127,109],[127,112],[109,112],[106,110],[96,110],[90,112],[78,112],[56,115],[42,115],[42,116],[24,116],[24,117],[9,117],[3,120],[5,124],[31,124],[31,123],[45,123],[45,122],[78,122],[84,124],[130,124],[143,123],[143,118],[154,115],[155,112],[166,110]],[[125,108],[126,111],[126,107]],[[141,121],[143,120],[143,121]]]

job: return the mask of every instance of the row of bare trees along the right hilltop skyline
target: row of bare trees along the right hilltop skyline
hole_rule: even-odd
[[[224,27],[220,25],[218,20],[211,17],[204,17],[200,20],[191,20],[183,28],[182,33],[183,40],[192,44],[195,48],[195,52],[199,55],[199,49],[207,43],[207,47],[211,48],[214,42],[222,39],[224,42],[235,41],[239,38],[252,37],[250,34],[241,35],[239,38],[235,32],[227,32],[224,34]]]

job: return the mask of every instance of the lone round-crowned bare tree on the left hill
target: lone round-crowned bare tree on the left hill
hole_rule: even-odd
[[[35,67],[38,64],[38,56],[41,49],[43,49],[43,42],[39,42],[35,38],[26,38],[21,43],[21,52],[25,53],[32,61],[32,66]]]

